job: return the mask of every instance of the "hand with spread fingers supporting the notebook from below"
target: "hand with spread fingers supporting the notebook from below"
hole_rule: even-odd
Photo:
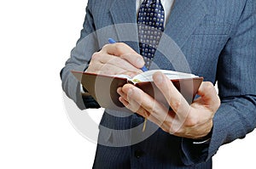
[[[118,88],[119,101],[129,110],[153,121],[165,132],[183,138],[207,136],[212,129],[213,116],[220,105],[212,83],[202,82],[197,92],[201,97],[189,105],[165,75],[156,72],[153,79],[172,110],[131,84]]]

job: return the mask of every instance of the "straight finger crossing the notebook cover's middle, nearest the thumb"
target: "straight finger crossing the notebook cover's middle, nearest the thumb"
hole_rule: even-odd
[[[183,95],[179,93],[177,88],[172,84],[171,80],[161,72],[154,73],[153,80],[156,87],[163,93],[172,110],[178,117],[185,119],[189,115],[190,106],[186,99],[183,98]]]

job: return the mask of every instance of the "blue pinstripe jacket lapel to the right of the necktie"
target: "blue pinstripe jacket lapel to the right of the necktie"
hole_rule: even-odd
[[[183,65],[186,58],[181,48],[206,14],[207,7],[203,0],[176,0],[164,36],[160,39],[159,51],[154,56],[156,65],[152,65],[151,69],[160,67],[189,72],[189,65]]]

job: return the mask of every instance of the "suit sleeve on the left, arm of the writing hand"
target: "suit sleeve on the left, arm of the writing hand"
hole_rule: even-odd
[[[73,76],[71,70],[84,71],[90,63],[90,57],[99,50],[96,40],[96,28],[91,14],[91,1],[88,1],[83,30],[76,47],[71,51],[71,57],[67,59],[65,67],[61,70],[62,88],[67,97],[73,99],[79,109],[99,108],[99,104],[88,95],[82,95],[80,83]]]

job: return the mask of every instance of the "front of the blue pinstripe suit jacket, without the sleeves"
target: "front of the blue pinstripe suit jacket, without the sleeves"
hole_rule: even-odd
[[[227,52],[225,46],[236,30],[245,2],[177,0],[166,22],[164,36],[160,40],[160,50],[155,54],[151,69],[191,72],[203,76],[205,81],[212,83],[227,78],[220,76],[218,71],[219,69],[225,71],[224,68],[230,64],[230,59],[221,58],[222,62],[219,60],[222,54]],[[135,5],[135,0],[89,0],[81,39],[96,31],[93,36],[98,48],[95,51],[108,42],[108,37],[113,37],[119,42],[126,42],[139,52]],[[92,50],[91,54],[95,51]],[[90,57],[91,54],[87,56]],[[226,72],[226,74],[230,73]],[[228,92],[225,94],[229,95]],[[190,153],[196,154],[196,149],[186,152],[182,146],[183,138],[163,132],[152,123],[148,126],[154,132],[142,133],[137,129],[142,123],[143,118],[140,116],[106,110],[100,125],[100,143],[97,147],[94,167],[209,168],[212,166],[211,159],[189,166],[189,162],[184,161]]]

